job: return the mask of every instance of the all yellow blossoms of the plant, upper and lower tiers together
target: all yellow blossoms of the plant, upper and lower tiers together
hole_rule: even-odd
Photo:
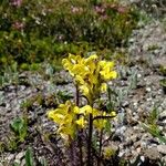
[[[62,61],[62,64],[73,76],[79,90],[90,104],[79,107],[66,101],[65,104],[60,104],[56,110],[49,112],[48,116],[58,124],[58,132],[61,137],[69,141],[74,138],[76,129],[86,127],[90,114],[93,118],[93,125],[97,129],[105,127],[106,116],[113,117],[116,115],[115,112],[107,114],[92,107],[92,105],[101,92],[106,91],[106,82],[115,79],[117,74],[113,70],[113,62],[100,61],[95,54],[86,59],[70,54],[69,59]]]

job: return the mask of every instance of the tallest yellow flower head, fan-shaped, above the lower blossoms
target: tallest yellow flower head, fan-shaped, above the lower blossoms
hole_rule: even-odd
[[[114,63],[100,61],[96,54],[86,59],[70,54],[63,59],[62,64],[74,77],[82,94],[91,103],[101,92],[105,92],[105,82],[116,79],[117,73],[113,70]]]

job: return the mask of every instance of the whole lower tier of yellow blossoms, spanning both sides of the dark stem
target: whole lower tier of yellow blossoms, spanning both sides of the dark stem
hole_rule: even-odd
[[[85,105],[83,107],[77,107],[70,101],[65,104],[60,104],[56,110],[50,111],[48,113],[49,118],[59,125],[59,134],[64,139],[74,138],[76,128],[84,128],[87,124],[87,117],[92,114],[93,118],[97,116],[115,116],[115,112],[106,114],[106,112],[98,111]],[[77,118],[79,117],[79,118]],[[94,126],[97,129],[102,129],[106,125],[106,120],[94,120]]]

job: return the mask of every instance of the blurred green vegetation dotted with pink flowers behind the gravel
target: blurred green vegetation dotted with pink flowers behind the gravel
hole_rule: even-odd
[[[118,0],[1,0],[0,66],[125,46],[138,11]]]

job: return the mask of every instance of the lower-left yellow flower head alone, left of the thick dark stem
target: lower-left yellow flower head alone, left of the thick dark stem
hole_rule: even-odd
[[[86,122],[83,116],[77,118],[80,111],[70,101],[60,104],[56,110],[50,111],[48,117],[59,125],[58,133],[62,138],[69,139],[74,137],[76,127],[83,128]]]

